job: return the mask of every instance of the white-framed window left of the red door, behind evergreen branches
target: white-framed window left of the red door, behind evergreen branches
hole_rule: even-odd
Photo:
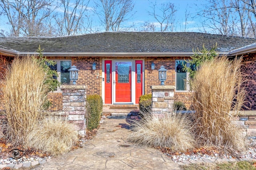
[[[71,67],[70,60],[53,60],[56,62],[55,65],[50,66],[51,70],[56,70],[58,72],[58,77],[56,78],[61,84],[70,84],[69,69]]]

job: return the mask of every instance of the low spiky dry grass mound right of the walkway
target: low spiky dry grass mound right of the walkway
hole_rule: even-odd
[[[194,137],[190,133],[191,121],[181,114],[166,114],[164,118],[144,114],[135,122],[128,141],[146,147],[168,147],[173,152],[194,147]]]

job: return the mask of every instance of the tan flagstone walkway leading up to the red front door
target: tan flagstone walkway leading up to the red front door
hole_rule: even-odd
[[[35,170],[180,170],[179,165],[153,148],[143,148],[126,141],[130,131],[127,119],[106,119],[97,135],[62,156],[51,158]]]

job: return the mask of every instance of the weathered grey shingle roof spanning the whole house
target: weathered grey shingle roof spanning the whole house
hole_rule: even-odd
[[[0,37],[0,45],[19,52],[57,53],[161,53],[210,49],[228,52],[252,43],[255,38],[232,37],[196,32],[104,32],[66,37]],[[0,47],[2,48],[2,47]]]

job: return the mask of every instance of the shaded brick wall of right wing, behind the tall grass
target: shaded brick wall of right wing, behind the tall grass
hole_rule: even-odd
[[[256,53],[243,56],[242,71],[246,74],[248,80],[244,83],[248,92],[245,105],[252,110],[256,110]],[[244,108],[247,109],[247,108]]]

